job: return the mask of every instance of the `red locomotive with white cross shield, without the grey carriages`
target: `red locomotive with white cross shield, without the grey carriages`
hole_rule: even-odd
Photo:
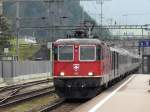
[[[53,44],[54,85],[59,96],[92,98],[111,75],[110,48],[98,39],[59,39]]]

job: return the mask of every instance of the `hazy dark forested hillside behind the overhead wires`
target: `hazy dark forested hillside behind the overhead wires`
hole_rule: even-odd
[[[5,2],[4,14],[7,17],[15,17],[16,3]],[[20,20],[20,27],[22,27],[20,29],[21,36],[35,36],[38,40],[56,40],[57,38],[64,38],[70,31],[50,30],[49,28],[56,25],[79,25],[82,20],[83,9],[76,0],[64,0],[62,3],[21,2],[19,16],[22,17]],[[93,21],[92,17],[86,12],[84,12],[84,19]],[[10,20],[13,32],[15,32],[16,19],[10,18]],[[39,27],[42,28],[39,29]],[[99,32],[97,33],[99,35]]]

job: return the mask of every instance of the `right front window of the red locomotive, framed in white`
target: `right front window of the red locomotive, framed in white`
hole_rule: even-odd
[[[95,61],[96,60],[96,46],[80,46],[80,61]]]

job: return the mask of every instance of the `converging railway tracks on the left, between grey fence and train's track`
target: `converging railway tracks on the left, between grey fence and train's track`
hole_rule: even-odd
[[[16,104],[18,102],[29,100],[38,96],[54,93],[55,90],[53,86],[47,86],[44,88],[42,87],[39,89],[37,88],[30,91],[20,92],[25,88],[48,83],[50,81],[51,80],[41,80],[41,81],[29,82],[25,84],[19,84],[19,85],[1,88],[0,94],[5,92],[9,92],[9,94],[0,99],[0,108],[5,108],[6,106],[9,106],[11,104]]]

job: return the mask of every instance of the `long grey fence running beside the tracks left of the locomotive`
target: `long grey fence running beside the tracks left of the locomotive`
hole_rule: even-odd
[[[30,74],[51,73],[50,61],[0,61],[0,77],[12,78]]]

